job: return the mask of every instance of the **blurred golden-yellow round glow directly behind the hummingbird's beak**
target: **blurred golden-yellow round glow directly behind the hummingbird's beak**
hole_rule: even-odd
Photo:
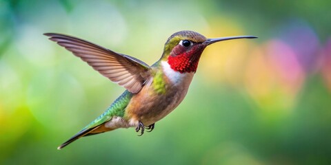
[[[226,24],[222,24],[226,22]],[[240,28],[241,25],[223,18],[212,21],[211,32],[205,34],[210,38],[223,36],[245,35]],[[251,40],[238,39],[223,41],[208,46],[201,57],[201,70],[205,78],[210,82],[230,83],[231,85],[241,85],[242,73],[245,69],[245,60],[252,47]],[[206,74],[208,73],[208,74]]]

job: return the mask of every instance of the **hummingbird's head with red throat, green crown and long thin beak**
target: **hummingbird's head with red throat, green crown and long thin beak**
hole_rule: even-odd
[[[164,45],[162,61],[168,61],[177,72],[196,72],[200,56],[205,47],[212,43],[230,39],[254,39],[256,36],[230,36],[207,39],[193,31],[180,31],[172,34]]]

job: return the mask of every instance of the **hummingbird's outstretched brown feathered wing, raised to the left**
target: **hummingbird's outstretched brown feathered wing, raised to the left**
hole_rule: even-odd
[[[63,34],[46,33],[51,41],[66,47],[67,50],[92,66],[103,76],[132,93],[137,93],[150,77],[150,67],[137,58],[112,52],[104,47]]]

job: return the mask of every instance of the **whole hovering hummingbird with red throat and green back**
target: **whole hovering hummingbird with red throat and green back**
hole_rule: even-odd
[[[148,65],[137,58],[65,34],[46,33],[51,41],[65,47],[112,82],[126,88],[110,107],[76,135],[63,142],[61,149],[80,137],[119,128],[134,127],[143,135],[155,122],[172,112],[185,98],[199,59],[208,45],[231,39],[255,39],[256,36],[230,36],[207,39],[184,30],[165,42],[159,61]]]

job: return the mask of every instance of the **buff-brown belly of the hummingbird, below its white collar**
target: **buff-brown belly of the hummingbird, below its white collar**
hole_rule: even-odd
[[[130,120],[141,121],[148,126],[164,118],[181,103],[192,76],[177,85],[167,85],[165,92],[161,94],[154,90],[151,82],[148,83],[128,104],[126,112]]]

